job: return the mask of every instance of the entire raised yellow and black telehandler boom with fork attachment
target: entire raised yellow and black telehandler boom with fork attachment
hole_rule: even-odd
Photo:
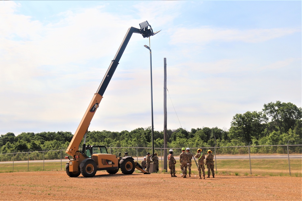
[[[82,155],[79,152],[79,145],[80,145],[86,131],[88,130],[88,126],[95,114],[96,109],[98,108],[98,106],[101,102],[101,99],[103,98],[103,94],[114,74],[115,69],[117,68],[117,65],[119,64],[118,62],[120,61],[120,58],[123,55],[124,50],[129,42],[132,34],[140,33],[140,34],[142,34],[142,36],[144,38],[146,38],[146,37],[153,36],[158,32],[159,31],[153,33],[152,27],[149,25],[148,21],[140,23],[140,29],[135,28],[135,27],[130,27],[128,29],[116,55],[114,56],[114,59],[111,61],[111,64],[110,64],[100,86],[98,87],[97,92],[93,96],[93,98],[84,114],[84,117],[82,118],[82,121],[80,122],[80,124],[66,150],[66,153],[71,155],[74,159],[79,158],[80,161],[82,161],[87,158],[87,156],[85,156],[85,150],[82,150],[82,153],[84,155]]]

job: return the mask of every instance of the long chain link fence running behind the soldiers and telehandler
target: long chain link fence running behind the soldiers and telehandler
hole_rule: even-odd
[[[180,174],[179,155],[182,152],[181,148],[168,147],[163,149],[162,147],[154,149],[159,158],[159,170],[167,172],[167,168],[163,166],[164,160],[167,160],[164,158],[164,152],[169,155],[169,149],[173,149],[173,155],[177,162],[175,165],[176,174]],[[302,145],[193,147],[190,148],[190,151],[196,155],[199,148],[205,155],[207,155],[208,149],[214,154],[215,174],[302,176]],[[128,155],[139,163],[143,161],[147,152],[152,153],[150,147],[107,147],[107,150],[108,153],[114,155],[121,152],[122,156],[128,152]],[[65,159],[66,155],[65,149],[0,154],[0,172],[64,170],[68,161]],[[192,159],[191,176],[198,176],[196,162]],[[207,174],[207,167],[205,166],[205,168]]]

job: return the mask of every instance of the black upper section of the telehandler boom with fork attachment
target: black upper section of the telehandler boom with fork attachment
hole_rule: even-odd
[[[142,24],[143,24],[143,26],[142,26]],[[126,49],[126,46],[129,42],[131,36],[132,36],[132,33],[140,33],[140,34],[142,34],[142,36],[144,38],[153,36],[154,34],[158,33],[158,32],[153,33],[153,30],[152,30],[151,26],[149,25],[149,23],[147,21],[141,23],[140,27],[141,27],[141,29],[137,29],[135,27],[130,27],[128,29],[122,43],[120,44],[120,48],[118,49],[114,59],[111,61],[111,64],[110,64],[110,66],[109,66],[109,68],[108,68],[108,70],[107,70],[100,86],[98,87],[98,90],[97,90],[96,93],[103,96],[103,94],[104,94],[104,92],[105,92],[105,90],[106,90],[106,88],[107,88],[107,86],[108,86],[108,84],[111,80],[111,77],[113,76],[114,71],[115,71],[115,69],[118,65],[118,62],[120,61],[120,58],[123,55],[124,50]],[[148,29],[148,27],[150,27],[150,29]]]

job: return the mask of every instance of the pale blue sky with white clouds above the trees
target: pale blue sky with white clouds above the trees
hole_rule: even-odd
[[[129,27],[93,130],[230,128],[269,102],[301,107],[301,1],[0,1],[0,135],[74,133]]]

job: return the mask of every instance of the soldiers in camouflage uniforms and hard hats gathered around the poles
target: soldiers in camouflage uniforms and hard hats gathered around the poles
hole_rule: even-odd
[[[212,172],[213,178],[215,178],[214,160],[213,160],[214,155],[212,154],[212,151],[208,150],[207,151],[208,155],[206,157],[201,151],[202,151],[201,149],[197,149],[197,154],[194,156],[196,159],[198,159],[198,172],[199,172],[198,179],[201,179],[201,171],[202,171],[203,177],[205,179],[204,164],[207,166],[207,169],[208,169],[207,178],[210,178],[211,172]],[[182,170],[183,178],[187,178],[187,168],[189,169],[189,177],[191,177],[192,158],[193,158],[193,154],[190,152],[190,148],[185,149],[185,147],[182,147],[182,153],[179,155],[179,162],[180,162],[180,168]],[[158,169],[157,153],[154,153],[153,156],[151,157],[151,159],[154,164],[153,165],[154,171],[158,172],[159,169]],[[147,152],[147,155],[144,157],[144,160],[141,162],[142,167],[146,168],[146,171],[148,171],[148,172],[149,172],[151,159],[150,159],[150,153]],[[204,163],[204,159],[206,159],[205,163]],[[168,161],[169,161],[169,169],[170,169],[171,177],[177,177],[175,175],[176,160],[174,159],[172,149],[169,150]]]

